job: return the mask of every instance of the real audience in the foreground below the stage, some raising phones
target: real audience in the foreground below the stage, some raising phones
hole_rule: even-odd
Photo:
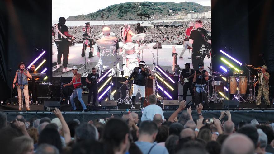
[[[234,124],[229,111],[221,111],[217,117],[203,117],[201,104],[194,110],[186,108],[185,101],[166,120],[162,109],[153,101],[140,117],[135,112],[125,112],[121,118],[112,115],[93,121],[80,119],[80,122],[79,119],[65,121],[57,108],[53,112],[56,116],[53,119],[25,119],[18,114],[12,121],[7,121],[7,115],[0,112],[1,153],[274,153],[274,123],[253,119]]]

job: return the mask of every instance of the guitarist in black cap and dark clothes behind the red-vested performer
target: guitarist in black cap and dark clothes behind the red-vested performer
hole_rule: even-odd
[[[87,106],[90,106],[90,99],[93,94],[92,106],[95,106],[95,102],[97,99],[98,85],[99,82],[99,74],[96,73],[96,68],[92,68],[92,73],[88,74],[86,78],[87,88],[88,88],[88,97],[87,97]]]

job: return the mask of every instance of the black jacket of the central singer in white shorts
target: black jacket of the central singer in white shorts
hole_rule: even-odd
[[[145,68],[145,71],[141,70],[139,74],[139,67],[135,67],[127,80],[130,80],[132,77],[134,77],[133,84],[145,86],[145,78],[149,77],[149,70]]]

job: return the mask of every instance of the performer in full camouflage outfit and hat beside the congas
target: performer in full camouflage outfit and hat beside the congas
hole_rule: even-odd
[[[261,73],[259,74],[258,81],[254,83],[254,87],[259,84],[258,95],[257,95],[257,108],[260,108],[261,104],[261,97],[264,96],[264,101],[269,108],[270,101],[269,101],[269,73],[266,72],[267,66],[263,65],[261,67]]]

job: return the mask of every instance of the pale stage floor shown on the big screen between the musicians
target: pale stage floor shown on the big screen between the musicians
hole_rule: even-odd
[[[185,68],[185,63],[190,63],[191,68],[192,67],[192,61],[191,61],[191,49],[187,49],[183,53],[183,58],[179,58],[180,54],[183,49],[183,45],[162,45],[162,48],[159,49],[159,58],[158,58],[158,65],[160,65],[164,70],[168,70],[169,72],[172,72],[172,63],[173,63],[173,57],[172,57],[172,46],[176,47],[178,55],[177,55],[177,63],[180,66],[181,69]],[[135,45],[135,48],[138,48],[138,44]],[[52,62],[57,62],[57,47],[56,44],[53,44],[52,46],[52,52],[55,53],[52,55]],[[155,63],[157,64],[157,49],[145,49],[143,50],[143,60],[148,66],[151,66],[153,63],[153,54],[155,55]],[[82,54],[82,44],[75,44],[75,46],[69,47],[69,60],[68,60],[68,67],[77,66],[78,73],[82,74],[85,69],[85,58],[81,57]],[[99,58],[97,57],[97,54],[95,53],[95,56],[92,58],[88,58],[89,55],[89,48],[86,50],[86,66],[87,69],[90,69],[92,67],[95,67],[98,63]],[[90,63],[88,63],[88,59],[90,59]],[[207,66],[209,67],[211,62],[211,58],[204,58],[204,68],[207,69]],[[63,62],[62,62],[63,63]],[[123,63],[126,64],[125,57],[123,58]],[[61,67],[63,68],[63,67]],[[56,69],[56,67],[53,67],[53,77],[71,77],[71,72],[65,72],[63,73],[61,68]]]

